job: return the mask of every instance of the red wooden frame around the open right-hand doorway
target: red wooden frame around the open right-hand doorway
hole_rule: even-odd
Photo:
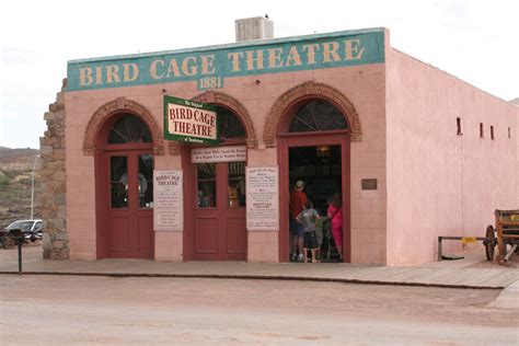
[[[351,262],[351,198],[350,198],[350,132],[348,130],[278,134],[277,158],[279,177],[279,261],[289,262],[289,149],[320,145],[341,146],[341,183],[343,196],[343,253],[344,262]]]

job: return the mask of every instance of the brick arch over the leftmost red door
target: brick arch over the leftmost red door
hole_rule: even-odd
[[[118,97],[99,107],[90,118],[83,140],[83,153],[85,155],[94,154],[95,136],[101,130],[103,124],[114,114],[120,112],[128,112],[140,117],[150,129],[151,138],[153,140],[153,153],[158,155],[164,154],[164,140],[162,130],[157,125],[157,122],[151,115],[150,111],[135,101],[128,100],[126,97]]]

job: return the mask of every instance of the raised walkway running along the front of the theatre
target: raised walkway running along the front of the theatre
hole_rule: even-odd
[[[290,279],[489,289],[503,289],[519,280],[519,269],[505,268],[492,263],[485,264],[481,254],[475,256],[470,254],[460,261],[435,262],[419,267],[385,267],[344,263],[45,261],[41,258],[37,247],[24,247],[23,250],[25,258],[23,273],[39,275]],[[2,261],[0,274],[18,273],[15,251],[9,250],[11,253],[3,253],[0,256]]]

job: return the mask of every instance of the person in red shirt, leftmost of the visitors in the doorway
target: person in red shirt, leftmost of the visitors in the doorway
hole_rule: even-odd
[[[303,192],[304,182],[297,181],[290,193],[290,233],[292,237],[290,260],[292,261],[304,261],[303,258],[303,231],[304,228],[301,222],[297,221],[297,217],[304,208],[307,204],[307,194]],[[298,255],[299,254],[299,255]]]

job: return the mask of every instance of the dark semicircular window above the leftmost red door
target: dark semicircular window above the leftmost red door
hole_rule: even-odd
[[[151,142],[148,126],[141,118],[132,114],[124,114],[109,129],[108,145],[148,142]]]

